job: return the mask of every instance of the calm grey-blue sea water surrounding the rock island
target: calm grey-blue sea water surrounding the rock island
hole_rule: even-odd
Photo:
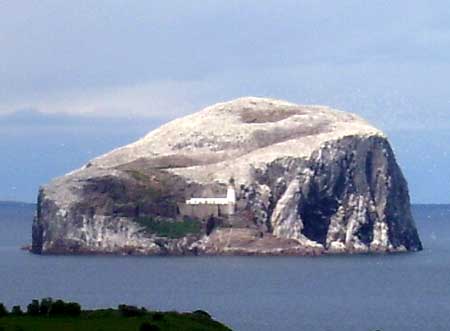
[[[0,204],[0,302],[204,309],[233,330],[450,330],[450,205],[413,207],[425,250],[323,257],[36,256],[33,207]]]

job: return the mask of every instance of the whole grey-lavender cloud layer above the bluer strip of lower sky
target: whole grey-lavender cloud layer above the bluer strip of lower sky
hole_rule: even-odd
[[[42,4],[44,3],[44,4]],[[446,1],[0,4],[0,114],[171,119],[244,95],[448,127]]]

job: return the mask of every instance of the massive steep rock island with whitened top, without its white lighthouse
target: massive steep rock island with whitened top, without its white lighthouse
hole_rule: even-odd
[[[233,215],[191,197],[223,197]],[[241,98],[170,122],[41,188],[35,253],[417,251],[386,137],[319,106]]]

